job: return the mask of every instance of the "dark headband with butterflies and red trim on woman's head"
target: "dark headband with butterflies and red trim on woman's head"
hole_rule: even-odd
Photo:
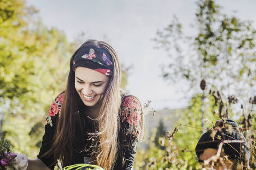
[[[76,67],[82,66],[105,75],[113,75],[113,59],[103,48],[81,47],[77,50],[72,62],[73,71]]]

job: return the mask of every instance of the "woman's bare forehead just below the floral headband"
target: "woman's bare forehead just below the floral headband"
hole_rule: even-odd
[[[85,82],[95,82],[95,81],[108,81],[108,76],[104,75],[98,71],[86,68],[86,67],[76,67],[75,76]]]

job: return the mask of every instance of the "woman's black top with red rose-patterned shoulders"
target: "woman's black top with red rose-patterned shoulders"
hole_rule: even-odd
[[[42,157],[43,154],[50,149],[52,139],[57,127],[57,119],[60,114],[61,105],[63,103],[64,94],[62,93],[53,101],[45,121],[45,134],[43,136],[42,146],[38,154],[38,158],[49,167],[54,169],[54,155],[50,157]],[[122,105],[119,111],[121,128],[118,132],[119,145],[118,155],[113,169],[132,169],[134,154],[137,149],[138,137],[140,134],[141,106],[137,98],[131,95],[122,95]],[[86,127],[86,126],[85,126]],[[87,145],[89,145],[87,143]],[[85,144],[85,146],[87,146]],[[88,155],[88,153],[87,153]],[[90,153],[89,153],[90,155]],[[77,153],[77,163],[84,163],[85,154]],[[124,158],[124,160],[123,160]]]

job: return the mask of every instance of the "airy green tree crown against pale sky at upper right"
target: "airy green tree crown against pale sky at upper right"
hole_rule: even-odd
[[[204,78],[220,90],[250,98],[256,90],[256,30],[251,21],[228,16],[220,9],[214,0],[199,0],[192,35],[183,33],[176,16],[157,32],[157,47],[170,57],[163,77],[185,81],[189,89],[198,89]]]

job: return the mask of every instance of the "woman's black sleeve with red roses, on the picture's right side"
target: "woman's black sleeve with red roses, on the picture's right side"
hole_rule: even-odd
[[[124,155],[124,169],[132,169],[137,142],[141,135],[141,105],[134,96],[124,98],[121,110],[121,148]]]

